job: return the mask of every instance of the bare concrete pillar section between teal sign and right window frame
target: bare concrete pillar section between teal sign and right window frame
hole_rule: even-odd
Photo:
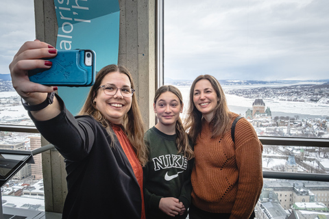
[[[120,37],[118,64],[126,66],[136,83],[145,130],[155,125],[156,1],[119,0]]]

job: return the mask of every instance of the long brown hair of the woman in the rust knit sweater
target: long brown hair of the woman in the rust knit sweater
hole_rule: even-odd
[[[215,138],[223,135],[230,125],[230,110],[228,110],[228,104],[226,103],[223,88],[221,88],[221,85],[215,77],[211,75],[199,75],[193,81],[191,86],[187,116],[184,121],[185,129],[188,132],[188,136],[193,140],[193,144],[195,144],[195,140],[197,140],[197,136],[202,130],[202,113],[197,110],[197,107],[195,107],[193,102],[195,84],[202,79],[207,79],[210,82],[219,99],[217,107],[215,108],[214,116],[209,123],[210,130],[212,131],[211,137]]]

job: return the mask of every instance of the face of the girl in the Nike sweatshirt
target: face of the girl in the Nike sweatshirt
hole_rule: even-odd
[[[176,121],[182,111],[183,105],[178,96],[170,91],[162,93],[154,103],[154,112],[158,117],[156,127],[161,131],[164,127],[171,126],[175,130]]]

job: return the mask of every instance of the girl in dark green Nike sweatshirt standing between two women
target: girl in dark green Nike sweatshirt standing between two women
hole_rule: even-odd
[[[162,86],[153,105],[158,123],[144,137],[149,148],[144,168],[146,218],[186,218],[194,155],[180,120],[182,94],[174,86]]]

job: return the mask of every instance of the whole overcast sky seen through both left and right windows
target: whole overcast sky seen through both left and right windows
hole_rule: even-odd
[[[0,73],[34,40],[33,0],[1,0]],[[164,0],[164,76],[329,79],[328,0]]]

